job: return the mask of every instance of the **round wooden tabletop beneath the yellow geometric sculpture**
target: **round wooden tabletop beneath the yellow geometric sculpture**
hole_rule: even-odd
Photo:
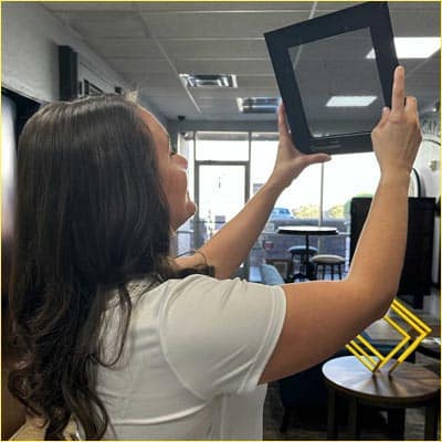
[[[354,356],[335,358],[323,366],[326,382],[338,391],[366,400],[406,404],[432,399],[441,388],[440,378],[425,367],[402,362],[390,375],[390,360],[371,372]]]

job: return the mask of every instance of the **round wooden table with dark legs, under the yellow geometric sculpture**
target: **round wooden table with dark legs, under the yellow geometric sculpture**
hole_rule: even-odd
[[[390,360],[380,371],[371,372],[354,356],[335,358],[323,366],[328,387],[327,439],[336,439],[336,394],[348,400],[349,439],[358,439],[358,406],[387,409],[389,439],[403,440],[406,409],[425,408],[424,439],[436,440],[441,380],[429,369],[402,362],[390,375]]]

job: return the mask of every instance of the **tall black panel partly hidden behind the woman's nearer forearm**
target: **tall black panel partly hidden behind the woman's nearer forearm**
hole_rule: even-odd
[[[371,198],[354,198],[350,206],[350,259],[370,209]],[[423,296],[431,293],[431,270],[434,234],[434,198],[408,199],[407,250],[398,296],[421,308]]]

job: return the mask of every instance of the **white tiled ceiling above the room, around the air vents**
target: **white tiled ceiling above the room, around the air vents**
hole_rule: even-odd
[[[198,120],[274,119],[238,110],[236,97],[278,96],[263,33],[357,2],[43,2],[86,44],[137,88],[162,115]],[[396,36],[439,36],[439,2],[390,2]],[[351,41],[341,43],[350,54]],[[325,49],[304,65],[311,82],[324,81]],[[352,72],[365,72],[365,53],[348,57]],[[307,55],[305,55],[307,57]],[[301,62],[303,62],[301,55]],[[345,75],[335,60],[335,83],[345,92],[364,86],[362,76]],[[407,86],[421,109],[440,94],[440,51],[431,59],[403,60]],[[238,88],[187,90],[179,73],[231,73]],[[343,80],[344,78],[344,80]],[[312,114],[327,118],[319,91],[308,88]],[[350,116],[350,115],[348,115]]]

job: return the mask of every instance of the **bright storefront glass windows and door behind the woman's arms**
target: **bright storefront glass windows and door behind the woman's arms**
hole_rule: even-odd
[[[277,133],[181,134],[179,151],[189,160],[189,193],[199,213],[179,230],[180,252],[201,246],[260,190],[273,171],[277,145]],[[249,277],[259,280],[257,266],[264,259],[285,260],[291,245],[304,243],[303,238],[277,234],[284,224],[336,227],[339,235],[312,238],[312,245],[348,260],[350,200],[372,196],[378,180],[372,152],[334,156],[329,162],[306,168],[277,199],[251,251]]]

